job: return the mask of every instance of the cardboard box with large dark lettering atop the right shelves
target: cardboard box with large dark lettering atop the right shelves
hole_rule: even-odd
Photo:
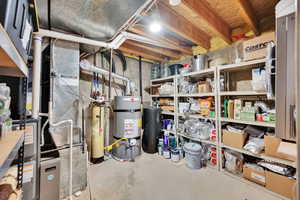
[[[245,41],[243,43],[244,61],[265,58],[267,55],[267,44],[272,41],[275,41],[274,32]]]

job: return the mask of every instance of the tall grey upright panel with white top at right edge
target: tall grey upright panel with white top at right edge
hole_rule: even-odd
[[[276,5],[276,136],[296,140],[295,2]]]

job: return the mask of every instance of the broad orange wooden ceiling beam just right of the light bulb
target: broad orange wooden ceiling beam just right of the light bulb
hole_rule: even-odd
[[[162,0],[161,2],[164,5],[168,4],[168,0]],[[215,13],[206,1],[181,0],[179,5],[172,6],[171,9],[181,16],[186,17],[195,26],[201,25],[203,27],[204,25],[208,27],[215,36],[220,37],[227,44],[232,43],[230,26]]]

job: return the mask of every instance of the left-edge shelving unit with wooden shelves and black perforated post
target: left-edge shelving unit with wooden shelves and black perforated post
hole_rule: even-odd
[[[11,133],[7,138],[0,141],[1,150],[6,152],[1,158],[0,178],[10,167],[13,160],[17,157],[17,181],[18,188],[23,184],[23,165],[24,165],[24,130],[26,126],[26,95],[27,95],[27,76],[28,67],[18,50],[11,41],[6,30],[0,24],[0,74],[3,76],[20,77],[20,132]],[[6,148],[4,148],[8,145]]]

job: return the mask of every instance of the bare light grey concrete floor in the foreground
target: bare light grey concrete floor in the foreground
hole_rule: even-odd
[[[188,169],[158,155],[134,163],[108,160],[89,169],[90,190],[76,200],[279,200],[210,168]]]

